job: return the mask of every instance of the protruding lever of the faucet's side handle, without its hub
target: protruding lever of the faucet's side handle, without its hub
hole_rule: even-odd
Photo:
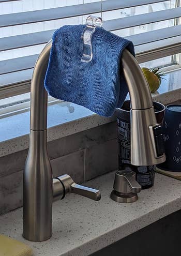
[[[59,176],[56,179],[58,179],[61,185],[64,187],[64,195],[62,198],[64,198],[67,193],[79,194],[79,195],[82,195],[83,197],[86,197],[95,201],[98,201],[101,198],[101,194],[99,190],[81,186],[77,183],[74,183],[73,179],[68,174]]]

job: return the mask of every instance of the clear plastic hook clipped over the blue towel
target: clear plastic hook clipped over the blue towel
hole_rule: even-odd
[[[90,62],[93,58],[92,50],[92,35],[95,32],[96,27],[102,26],[102,19],[100,17],[88,16],[86,19],[86,27],[82,33],[83,41],[83,55],[81,62]]]

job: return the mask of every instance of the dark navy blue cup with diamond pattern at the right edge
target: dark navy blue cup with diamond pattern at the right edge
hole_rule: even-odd
[[[158,168],[181,172],[181,104],[166,107],[162,131],[167,159]]]

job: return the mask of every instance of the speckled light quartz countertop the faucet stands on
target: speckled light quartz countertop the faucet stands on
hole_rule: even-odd
[[[85,185],[98,188],[98,202],[68,195],[53,204],[52,238],[28,242],[22,237],[22,209],[0,216],[0,233],[31,246],[34,256],[86,256],[181,209],[181,182],[156,174],[154,187],[143,190],[139,200],[120,204],[110,199],[114,172]]]

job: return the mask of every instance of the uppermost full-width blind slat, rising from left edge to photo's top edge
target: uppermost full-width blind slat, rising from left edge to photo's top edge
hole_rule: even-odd
[[[141,6],[164,2],[165,0],[108,0],[103,1],[102,11],[124,9],[128,7]],[[169,1],[169,0],[167,0]],[[26,11],[20,13],[3,14],[0,16],[0,27],[15,26],[21,24],[50,21],[77,17],[101,11],[101,2],[79,4],[65,7],[57,7],[44,10]]]

